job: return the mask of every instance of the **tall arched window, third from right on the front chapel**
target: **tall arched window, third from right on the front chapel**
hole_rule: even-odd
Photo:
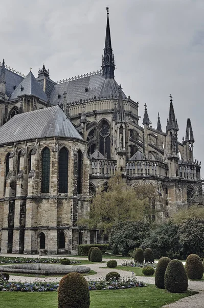
[[[41,192],[45,194],[50,191],[50,149],[42,150],[42,177],[41,177]]]

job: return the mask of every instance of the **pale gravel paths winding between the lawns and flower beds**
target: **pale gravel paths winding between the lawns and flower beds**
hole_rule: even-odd
[[[8,255],[8,254],[0,254],[0,256],[11,256],[11,257],[20,257],[19,255]],[[36,255],[21,255],[21,257],[37,257]],[[46,256],[43,256],[45,258]],[[87,258],[77,258],[69,256],[70,259],[80,259],[80,260],[87,260]],[[51,256],[51,258],[63,258],[63,256]],[[103,259],[103,261],[108,261],[110,259]],[[124,259],[117,259],[118,265],[120,265],[122,262],[124,262]],[[105,277],[105,275],[110,272],[109,268],[100,268],[105,266],[105,263],[93,263],[93,264],[87,264],[88,267],[90,267],[91,270],[97,272],[95,275],[91,276],[84,276],[87,280],[97,280],[99,278]],[[122,271],[121,269],[112,269],[116,272],[118,272],[121,277],[128,277],[131,276],[131,272]],[[33,282],[34,280],[40,280],[40,281],[48,281],[48,280],[54,280],[54,281],[60,281],[61,277],[49,277],[48,278],[36,278],[36,277],[24,277],[24,276],[10,276],[10,280],[15,281],[27,281],[27,282]],[[144,277],[144,276],[137,276],[138,281],[143,281],[144,283],[154,284],[154,277]],[[163,306],[163,308],[204,308],[204,282],[203,281],[191,281],[189,280],[189,290],[197,291],[199,294],[185,297],[183,299],[178,300],[175,303],[168,304]]]

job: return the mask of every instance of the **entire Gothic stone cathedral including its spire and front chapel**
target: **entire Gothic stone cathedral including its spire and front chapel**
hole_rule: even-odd
[[[197,194],[200,162],[187,119],[178,141],[172,95],[166,129],[153,128],[145,104],[115,80],[109,12],[102,70],[58,82],[43,65],[35,78],[0,63],[0,247],[2,253],[76,254],[102,243],[77,226],[100,185],[121,170],[128,185],[155,185],[152,221],[163,221]],[[155,213],[157,213],[155,215]]]

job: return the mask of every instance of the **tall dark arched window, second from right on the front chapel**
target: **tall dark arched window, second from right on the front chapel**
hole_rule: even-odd
[[[68,151],[63,147],[59,151],[59,192],[68,191]]]

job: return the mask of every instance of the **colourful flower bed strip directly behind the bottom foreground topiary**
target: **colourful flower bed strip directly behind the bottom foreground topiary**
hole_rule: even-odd
[[[59,283],[56,281],[46,282],[35,280],[33,283],[21,282],[21,281],[1,281],[0,291],[10,292],[53,292],[57,291]],[[119,290],[132,287],[144,287],[142,281],[137,281],[134,273],[131,277],[126,277],[120,280],[110,279],[106,281],[105,278],[95,280],[88,280],[88,288],[90,291],[94,290]]]

